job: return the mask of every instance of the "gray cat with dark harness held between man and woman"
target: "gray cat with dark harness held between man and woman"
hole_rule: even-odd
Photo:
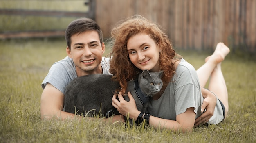
[[[138,78],[127,82],[126,94],[131,92],[139,111],[144,111],[148,100],[162,88],[162,73],[144,70]],[[120,114],[112,106],[112,97],[118,82],[111,80],[111,75],[90,74],[75,78],[66,87],[65,111],[87,117],[110,117]],[[128,96],[124,96],[130,101]]]

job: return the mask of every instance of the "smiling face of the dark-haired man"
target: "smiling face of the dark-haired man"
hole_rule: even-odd
[[[77,76],[102,73],[101,60],[105,52],[104,43],[100,43],[96,31],[85,31],[71,36],[70,50],[67,55],[76,65]]]

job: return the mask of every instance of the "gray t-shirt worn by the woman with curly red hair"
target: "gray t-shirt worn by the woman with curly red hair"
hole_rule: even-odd
[[[148,113],[155,117],[176,120],[177,115],[193,107],[196,118],[199,117],[203,97],[194,67],[182,58],[175,72],[162,96],[157,100],[150,100]],[[222,107],[217,100],[214,115],[209,123],[218,124],[222,119]]]

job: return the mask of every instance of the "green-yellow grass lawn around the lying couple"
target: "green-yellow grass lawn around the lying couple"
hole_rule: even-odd
[[[0,41],[0,142],[127,142],[127,143],[255,143],[256,62],[229,55],[222,71],[229,92],[229,115],[218,125],[195,128],[192,133],[153,128],[126,128],[101,121],[41,121],[40,84],[51,65],[66,56],[65,41]],[[194,65],[207,53],[179,51]]]

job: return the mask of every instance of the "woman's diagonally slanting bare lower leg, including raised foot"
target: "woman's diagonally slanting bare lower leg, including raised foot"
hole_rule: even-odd
[[[204,65],[196,71],[202,87],[205,87],[215,67],[224,60],[228,53],[229,48],[224,43],[218,43],[213,54],[205,59]]]

